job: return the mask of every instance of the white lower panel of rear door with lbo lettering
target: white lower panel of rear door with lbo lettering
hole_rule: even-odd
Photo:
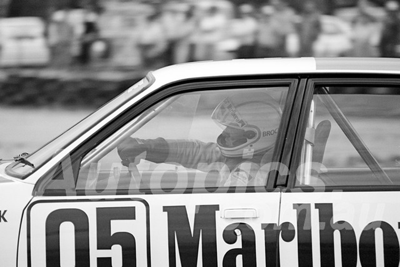
[[[398,201],[396,192],[282,193],[280,224],[296,236],[281,241],[281,266],[396,264]],[[383,238],[382,238],[383,237]]]

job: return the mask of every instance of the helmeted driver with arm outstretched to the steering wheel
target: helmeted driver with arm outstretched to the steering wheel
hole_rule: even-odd
[[[223,163],[229,171],[220,185],[264,185],[255,177],[260,166],[272,160],[281,118],[279,104],[266,92],[240,93],[222,100],[211,118],[222,128],[216,143],[129,137],[118,145],[122,164],[128,167],[140,155],[154,163],[192,169]]]

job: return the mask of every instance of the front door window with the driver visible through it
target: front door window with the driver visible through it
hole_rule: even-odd
[[[288,86],[171,96],[97,145],[80,165],[85,194],[228,191],[265,186]]]

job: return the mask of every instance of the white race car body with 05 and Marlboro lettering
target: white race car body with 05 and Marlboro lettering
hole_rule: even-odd
[[[230,60],[180,64],[156,70],[149,75],[154,77],[152,83],[144,87],[136,84],[128,88],[123,101],[110,102],[108,108],[98,110],[102,112],[101,116],[98,120],[89,120],[91,124],[86,132],[24,179],[4,171],[7,166],[12,168],[22,163],[0,165],[0,234],[9,241],[2,247],[5,253],[0,254],[0,259],[8,266],[17,263],[18,266],[398,265],[400,215],[396,199],[400,178],[396,164],[400,164],[400,158],[394,148],[396,157],[390,155],[392,158],[388,161],[392,165],[385,165],[382,170],[378,168],[382,156],[376,157],[375,161],[372,154],[376,150],[372,153],[364,149],[362,139],[354,133],[355,129],[362,132],[374,127],[368,124],[368,127],[360,128],[362,123],[355,120],[353,129],[350,123],[354,118],[365,116],[357,114],[360,107],[369,107],[372,115],[374,111],[386,114],[388,111],[384,107],[372,104],[376,98],[384,99],[386,102],[380,103],[392,105],[389,110],[392,113],[387,115],[392,120],[375,128],[393,124],[390,127],[394,128],[390,131],[393,138],[390,137],[392,139],[388,139],[386,145],[398,145],[393,122],[398,118],[395,101],[400,95],[398,74],[400,60],[383,58]],[[178,102],[176,99],[180,96],[208,94],[209,98],[204,102],[199,100],[206,103],[216,101],[212,99],[218,96],[216,92],[223,95],[232,93],[230,90],[246,90],[251,94],[274,88],[276,93],[280,92],[282,84],[288,93],[281,99],[284,99],[284,110],[278,130],[278,149],[274,152],[274,159],[281,165],[264,165],[276,169],[268,172],[260,187],[210,190],[206,187],[209,173],[190,168],[184,173],[182,166],[171,167],[167,163],[167,167],[148,169],[157,182],[149,188],[140,188],[142,184],[136,184],[135,188],[118,191],[118,187],[113,187],[113,183],[119,185],[116,177],[124,176],[124,181],[131,183],[132,177],[133,180],[144,179],[147,175],[142,169],[122,170],[118,167],[100,174],[101,179],[95,177],[103,187],[88,186],[92,182],[90,174],[98,173],[89,173],[88,179],[84,180],[86,184],[78,187],[80,177],[76,177],[76,173],[86,164],[87,155],[98,153],[96,149],[106,150],[109,138],[111,144],[117,142],[113,141],[114,135],[115,138],[123,136],[119,130],[124,132],[131,126],[143,128],[147,125],[146,119],[155,118],[166,107],[172,109],[170,103]],[[320,85],[323,88],[319,88]],[[362,86],[367,86],[368,90],[363,91]],[[335,88],[344,92],[353,90],[354,94],[344,94],[340,98],[342,91],[336,92]],[[334,102],[327,101],[329,97],[324,98],[325,94],[343,101],[336,107]],[[312,129],[316,123],[310,118],[315,115],[310,114],[320,112],[319,107],[314,110],[314,106],[318,106],[314,103],[318,97],[330,108],[330,113],[323,113],[322,117],[333,113],[331,120],[339,125],[330,138],[335,139],[335,135],[341,133],[351,139],[349,145],[334,144],[344,150],[355,146],[367,163],[362,167],[336,168],[335,165],[318,169],[318,175],[322,173],[322,176],[317,178],[324,183],[313,184],[318,179],[302,176],[306,174],[302,162],[310,156],[307,148],[316,146],[313,133],[318,127]],[[369,105],[363,101],[370,101]],[[155,102],[161,104],[153,106]],[[355,109],[351,109],[352,106]],[[178,107],[189,116],[184,104]],[[194,110],[198,112],[196,107]],[[355,115],[346,121],[340,110]],[[179,112],[172,114],[176,116],[162,125],[171,123],[172,129],[168,132],[177,132],[173,121],[180,123]],[[374,122],[384,120],[385,116]],[[210,120],[209,115],[201,118]],[[207,127],[202,129],[201,126],[192,130],[207,131]],[[185,131],[183,125],[178,129]],[[376,138],[372,144],[382,143],[378,131],[367,137],[372,141]],[[366,143],[371,147],[368,139]],[[339,150],[333,149],[332,155]],[[382,153],[382,150],[378,152]],[[66,158],[70,159],[69,165],[63,165]],[[142,163],[135,164],[136,168],[142,167]],[[89,171],[97,171],[97,167],[94,165]],[[298,172],[301,175],[298,176]],[[325,177],[324,173],[331,176]],[[389,181],[383,173],[388,175]],[[75,183],[67,185],[68,179]],[[186,179],[187,187],[162,187],[163,180],[173,179]],[[161,187],[157,187],[158,184]]]

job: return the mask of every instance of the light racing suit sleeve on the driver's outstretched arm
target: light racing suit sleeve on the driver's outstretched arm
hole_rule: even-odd
[[[216,143],[204,143],[198,140],[166,140],[169,154],[165,162],[178,163],[186,168],[197,169],[199,163],[225,163]]]

